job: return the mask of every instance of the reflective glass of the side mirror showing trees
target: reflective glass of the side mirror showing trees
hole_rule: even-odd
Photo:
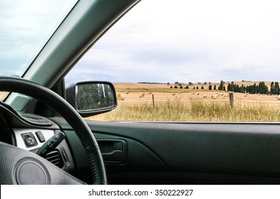
[[[91,111],[115,105],[115,92],[104,83],[85,83],[76,85],[76,109]]]

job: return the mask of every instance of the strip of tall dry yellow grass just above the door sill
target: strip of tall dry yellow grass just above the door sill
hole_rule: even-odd
[[[209,122],[280,122],[279,109],[258,102],[250,105],[218,100],[190,99],[182,97],[167,99],[165,102],[125,104],[120,103],[112,112],[88,119],[103,121],[209,121]]]

